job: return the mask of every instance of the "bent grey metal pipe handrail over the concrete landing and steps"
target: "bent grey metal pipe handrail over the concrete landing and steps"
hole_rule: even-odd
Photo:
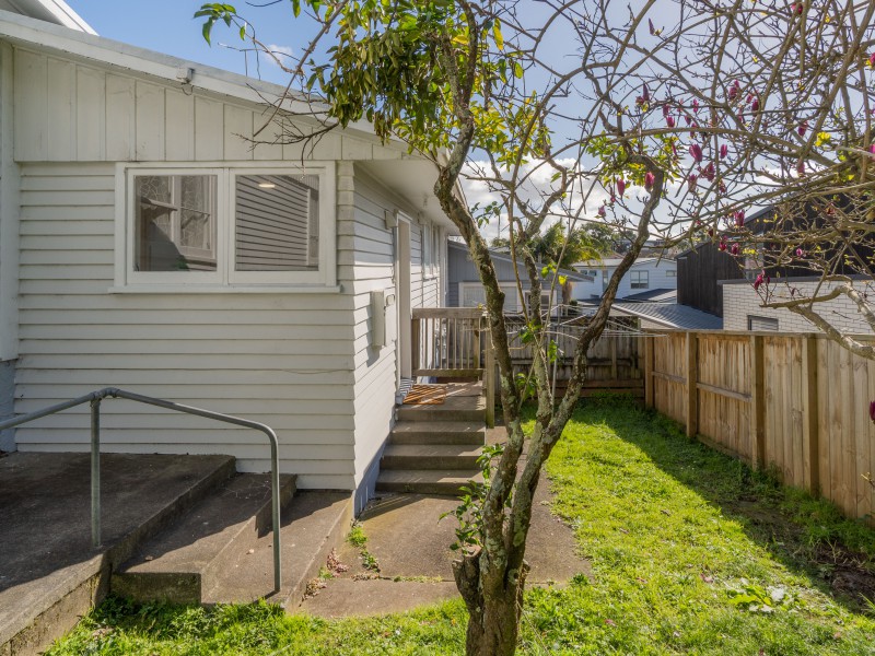
[[[279,461],[279,438],[277,433],[267,424],[257,421],[249,421],[248,419],[241,419],[231,414],[223,414],[221,412],[213,412],[212,410],[205,410],[203,408],[195,408],[192,406],[184,406],[164,399],[156,399],[153,397],[133,394],[132,391],[125,391],[116,387],[105,387],[97,391],[92,391],[85,396],[43,408],[36,412],[22,414],[14,419],[0,421],[0,431],[12,429],[21,424],[81,406],[83,403],[91,405],[91,540],[95,549],[101,546],[101,401],[106,398],[113,399],[128,399],[139,403],[148,403],[150,406],[158,406],[167,410],[176,410],[177,412],[185,412],[187,414],[197,414],[198,417],[206,417],[207,419],[214,419],[225,423],[236,424],[247,429],[255,429],[261,431],[268,436],[270,441],[270,487],[271,487],[271,505],[273,515],[273,591],[279,593],[282,582],[282,563],[280,560],[280,461]]]

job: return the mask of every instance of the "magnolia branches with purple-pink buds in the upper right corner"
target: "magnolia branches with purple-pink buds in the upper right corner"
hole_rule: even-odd
[[[579,25],[592,99],[644,152],[670,142],[666,225],[736,257],[762,306],[875,359],[822,304],[845,296],[875,331],[875,3],[654,0],[620,30],[611,5]]]

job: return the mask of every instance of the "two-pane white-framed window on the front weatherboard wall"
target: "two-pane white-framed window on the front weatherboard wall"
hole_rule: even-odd
[[[335,284],[334,168],[129,167],[118,286]]]

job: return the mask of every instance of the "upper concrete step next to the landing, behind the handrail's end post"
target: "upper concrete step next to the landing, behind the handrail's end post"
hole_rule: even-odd
[[[280,503],[295,477],[280,477]],[[140,601],[200,604],[220,574],[271,530],[270,476],[242,473],[168,530],[144,543],[113,574],[113,593]]]

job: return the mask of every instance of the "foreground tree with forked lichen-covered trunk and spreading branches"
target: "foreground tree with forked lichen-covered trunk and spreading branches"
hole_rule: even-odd
[[[873,8],[749,0],[660,0],[640,9],[607,0],[291,4],[316,23],[317,36],[287,65],[289,89],[300,92],[296,99],[320,99],[308,113],[315,124],[278,105],[276,119],[288,120],[283,138],[311,141],[364,119],[382,139],[430,157],[434,192],[479,271],[508,435],[491,452],[482,496],[459,513],[466,525],[454,573],[470,614],[467,652],[511,654],[533,495],[579,400],[587,349],[605,328],[620,279],[652,236],[670,244],[710,233],[739,257],[755,257],[766,242],[744,232],[739,214],[751,203],[821,198],[849,186],[864,191],[863,50]],[[822,5],[819,20],[815,5]],[[224,22],[259,46],[231,5],[206,4],[198,15],[205,35]],[[464,178],[487,201],[468,207],[456,192]],[[481,235],[499,220],[533,292],[523,338],[535,358],[522,378]],[[556,222],[569,233],[595,222],[630,235],[567,354],[573,366],[561,398],[549,380],[557,349],[533,247]],[[562,257],[560,249],[553,259]],[[553,274],[550,284],[561,282]],[[525,436],[522,405],[532,390],[535,421]]]

